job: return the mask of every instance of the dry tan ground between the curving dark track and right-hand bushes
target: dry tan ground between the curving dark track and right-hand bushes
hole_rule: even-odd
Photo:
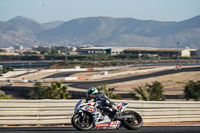
[[[183,94],[185,84],[189,80],[200,80],[200,71],[198,72],[182,72],[174,73],[165,76],[151,77],[146,79],[109,84],[109,86],[115,87],[118,92],[132,92],[132,88],[136,88],[146,83],[152,83],[159,81],[164,85],[164,94]]]

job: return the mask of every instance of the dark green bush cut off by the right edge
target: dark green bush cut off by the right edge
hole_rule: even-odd
[[[184,95],[186,100],[193,99],[195,101],[200,100],[200,80],[187,82],[184,88]]]

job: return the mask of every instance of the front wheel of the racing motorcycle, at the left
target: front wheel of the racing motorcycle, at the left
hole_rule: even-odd
[[[81,131],[90,130],[93,127],[93,120],[87,113],[74,114],[71,122],[74,128]]]

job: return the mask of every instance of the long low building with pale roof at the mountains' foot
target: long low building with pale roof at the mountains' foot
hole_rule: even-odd
[[[135,54],[150,57],[198,57],[197,49],[190,48],[152,48],[152,47],[84,47],[79,48],[79,54]]]

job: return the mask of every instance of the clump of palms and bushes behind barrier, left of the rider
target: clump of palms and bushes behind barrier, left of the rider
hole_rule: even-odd
[[[61,82],[53,82],[51,86],[42,86],[40,82],[35,83],[34,88],[28,93],[30,99],[66,99],[70,98],[68,88],[62,86]]]

